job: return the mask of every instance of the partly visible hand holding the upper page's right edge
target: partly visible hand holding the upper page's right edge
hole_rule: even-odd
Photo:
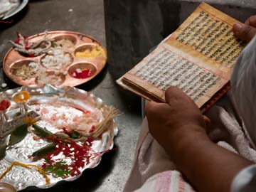
[[[256,35],[256,16],[250,16],[245,23],[235,23],[233,26],[235,36],[245,41],[251,41]]]

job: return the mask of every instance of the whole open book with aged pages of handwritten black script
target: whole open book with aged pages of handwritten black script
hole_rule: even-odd
[[[164,102],[176,85],[207,110],[230,88],[235,60],[246,43],[233,34],[234,18],[202,3],[174,33],[117,83],[147,100]]]

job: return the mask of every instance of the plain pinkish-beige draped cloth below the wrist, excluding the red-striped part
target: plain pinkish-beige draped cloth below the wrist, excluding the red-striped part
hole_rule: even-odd
[[[174,163],[158,142],[149,134],[147,119],[144,118],[135,149],[134,164],[124,186],[124,191],[134,191],[140,188],[146,179],[154,174],[174,169],[176,169]]]

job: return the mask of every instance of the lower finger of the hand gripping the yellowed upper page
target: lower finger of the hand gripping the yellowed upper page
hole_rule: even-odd
[[[243,23],[235,23],[233,26],[233,32],[235,36],[245,41],[251,41],[256,34],[256,28],[247,26]]]

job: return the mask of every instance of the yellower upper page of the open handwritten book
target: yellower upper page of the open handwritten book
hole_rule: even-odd
[[[234,36],[233,25],[238,23],[206,3],[196,11],[166,41],[178,50],[191,51],[190,55],[200,57],[203,63],[228,71],[233,68],[245,41]],[[217,64],[217,65],[216,65]]]

